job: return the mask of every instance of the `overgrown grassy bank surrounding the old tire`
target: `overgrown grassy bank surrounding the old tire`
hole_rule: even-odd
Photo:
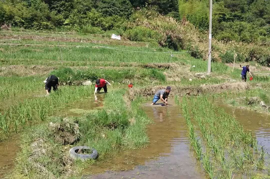
[[[110,154],[146,146],[149,138],[146,133],[146,126],[151,122],[146,113],[139,108],[142,97],[137,97],[130,107],[126,106],[123,99],[125,90],[117,90],[106,94],[104,99],[104,108],[101,111],[95,111],[85,116],[70,118],[77,121],[80,130],[80,141],[74,144],[88,145],[94,147],[99,152],[99,160],[105,160]],[[61,145],[53,138],[53,132],[48,129],[48,123],[62,123],[62,119],[52,117],[46,123],[29,128],[22,136],[22,152],[16,158],[16,167],[11,177],[37,178],[40,176],[49,176],[50,178],[65,177],[62,173],[65,165],[64,157],[68,152],[65,145]],[[31,133],[32,135],[29,135]],[[36,141],[42,141],[41,144]],[[35,153],[33,143],[38,143],[38,147],[46,148],[45,152]],[[70,148],[72,146],[68,146]],[[66,152],[61,152],[66,151]],[[29,160],[34,158],[35,160]],[[80,176],[80,171],[94,161],[82,163],[75,161],[72,166],[73,177]],[[40,170],[39,165],[45,170]],[[25,170],[27,168],[27,170]],[[78,170],[77,170],[78,169]]]

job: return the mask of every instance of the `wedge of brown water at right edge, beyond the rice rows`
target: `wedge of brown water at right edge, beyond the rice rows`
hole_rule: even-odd
[[[258,144],[265,146],[266,150],[270,152],[270,115],[226,106],[220,99],[213,102],[225,109],[226,112],[232,114],[245,129],[255,134]]]

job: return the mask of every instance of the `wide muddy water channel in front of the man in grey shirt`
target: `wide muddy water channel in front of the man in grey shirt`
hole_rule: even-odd
[[[171,100],[170,102],[172,102]],[[126,151],[97,166],[91,166],[82,178],[204,178],[192,157],[186,137],[185,120],[176,104],[143,105],[154,124],[148,126],[147,148]]]

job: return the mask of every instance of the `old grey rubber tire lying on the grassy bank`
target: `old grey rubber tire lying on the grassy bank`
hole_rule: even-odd
[[[79,151],[79,149],[92,150],[92,153],[80,154],[80,153],[77,153]],[[72,159],[80,159],[80,160],[85,161],[88,159],[97,159],[99,157],[99,154],[97,153],[96,149],[94,149],[94,148],[91,149],[88,146],[76,146],[76,147],[73,147],[69,150],[69,156]]]

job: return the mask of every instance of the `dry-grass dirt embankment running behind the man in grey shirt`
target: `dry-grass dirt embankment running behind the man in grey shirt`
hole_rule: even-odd
[[[221,83],[221,84],[209,84],[209,85],[200,85],[198,87],[194,86],[187,86],[187,87],[177,87],[171,86],[172,91],[170,96],[198,96],[200,94],[206,94],[210,92],[219,93],[222,91],[242,91],[247,90],[250,86],[247,83],[243,82],[236,82],[236,83]],[[128,92],[124,95],[127,104],[130,104],[136,95],[142,96],[153,96],[158,90],[164,89],[164,86],[155,86],[155,87],[148,87],[148,88],[131,88]]]

